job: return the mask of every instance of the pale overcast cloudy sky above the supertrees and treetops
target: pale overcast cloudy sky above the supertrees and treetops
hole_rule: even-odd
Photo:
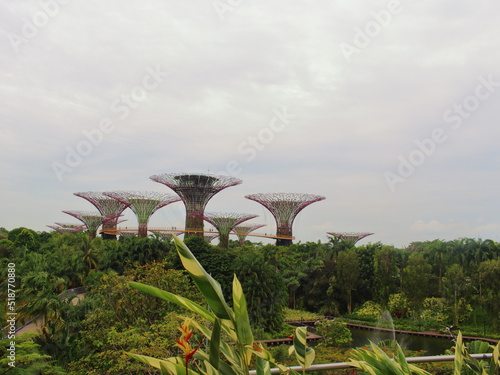
[[[0,1],[0,227],[95,211],[82,191],[173,193],[161,173],[324,196],[295,242],[500,241],[500,3]],[[182,226],[182,202],[150,226]],[[127,222],[136,219],[127,211]],[[263,240],[266,243],[268,240]]]

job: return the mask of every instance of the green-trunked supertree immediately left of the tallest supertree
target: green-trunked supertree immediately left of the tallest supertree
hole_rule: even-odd
[[[176,195],[156,191],[108,191],[103,192],[103,194],[130,207],[139,223],[139,237],[148,236],[148,221],[151,215],[160,208],[181,200]]]

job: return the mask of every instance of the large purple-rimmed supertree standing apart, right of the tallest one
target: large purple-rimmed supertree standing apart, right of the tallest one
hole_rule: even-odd
[[[266,207],[276,220],[276,245],[292,244],[292,225],[297,214],[311,203],[322,201],[325,197],[302,193],[259,193],[245,195]]]

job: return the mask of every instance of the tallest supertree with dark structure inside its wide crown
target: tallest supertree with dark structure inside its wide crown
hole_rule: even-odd
[[[242,182],[230,176],[192,173],[163,173],[150,179],[168,186],[182,198],[186,206],[185,237],[203,236],[202,217],[208,201],[219,191]]]

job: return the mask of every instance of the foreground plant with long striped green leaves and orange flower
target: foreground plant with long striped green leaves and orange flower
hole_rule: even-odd
[[[183,351],[182,357],[157,359],[135,353],[127,355],[169,375],[247,375],[253,356],[256,357],[258,375],[270,375],[271,365],[282,372],[297,374],[276,363],[271,353],[254,341],[247,302],[238,278],[235,276],[233,279],[231,308],[224,299],[219,283],[205,271],[188,247],[175,236],[174,242],[184,268],[201,291],[208,308],[156,287],[137,282],[131,282],[130,285],[186,308],[207,324],[186,318],[180,327],[182,335],[177,340],[177,346]],[[191,343],[194,330],[206,338],[209,344],[201,346]],[[297,328],[292,347],[303,370],[314,359],[314,350],[306,346],[306,334],[304,327]],[[191,361],[192,358],[195,361]]]

